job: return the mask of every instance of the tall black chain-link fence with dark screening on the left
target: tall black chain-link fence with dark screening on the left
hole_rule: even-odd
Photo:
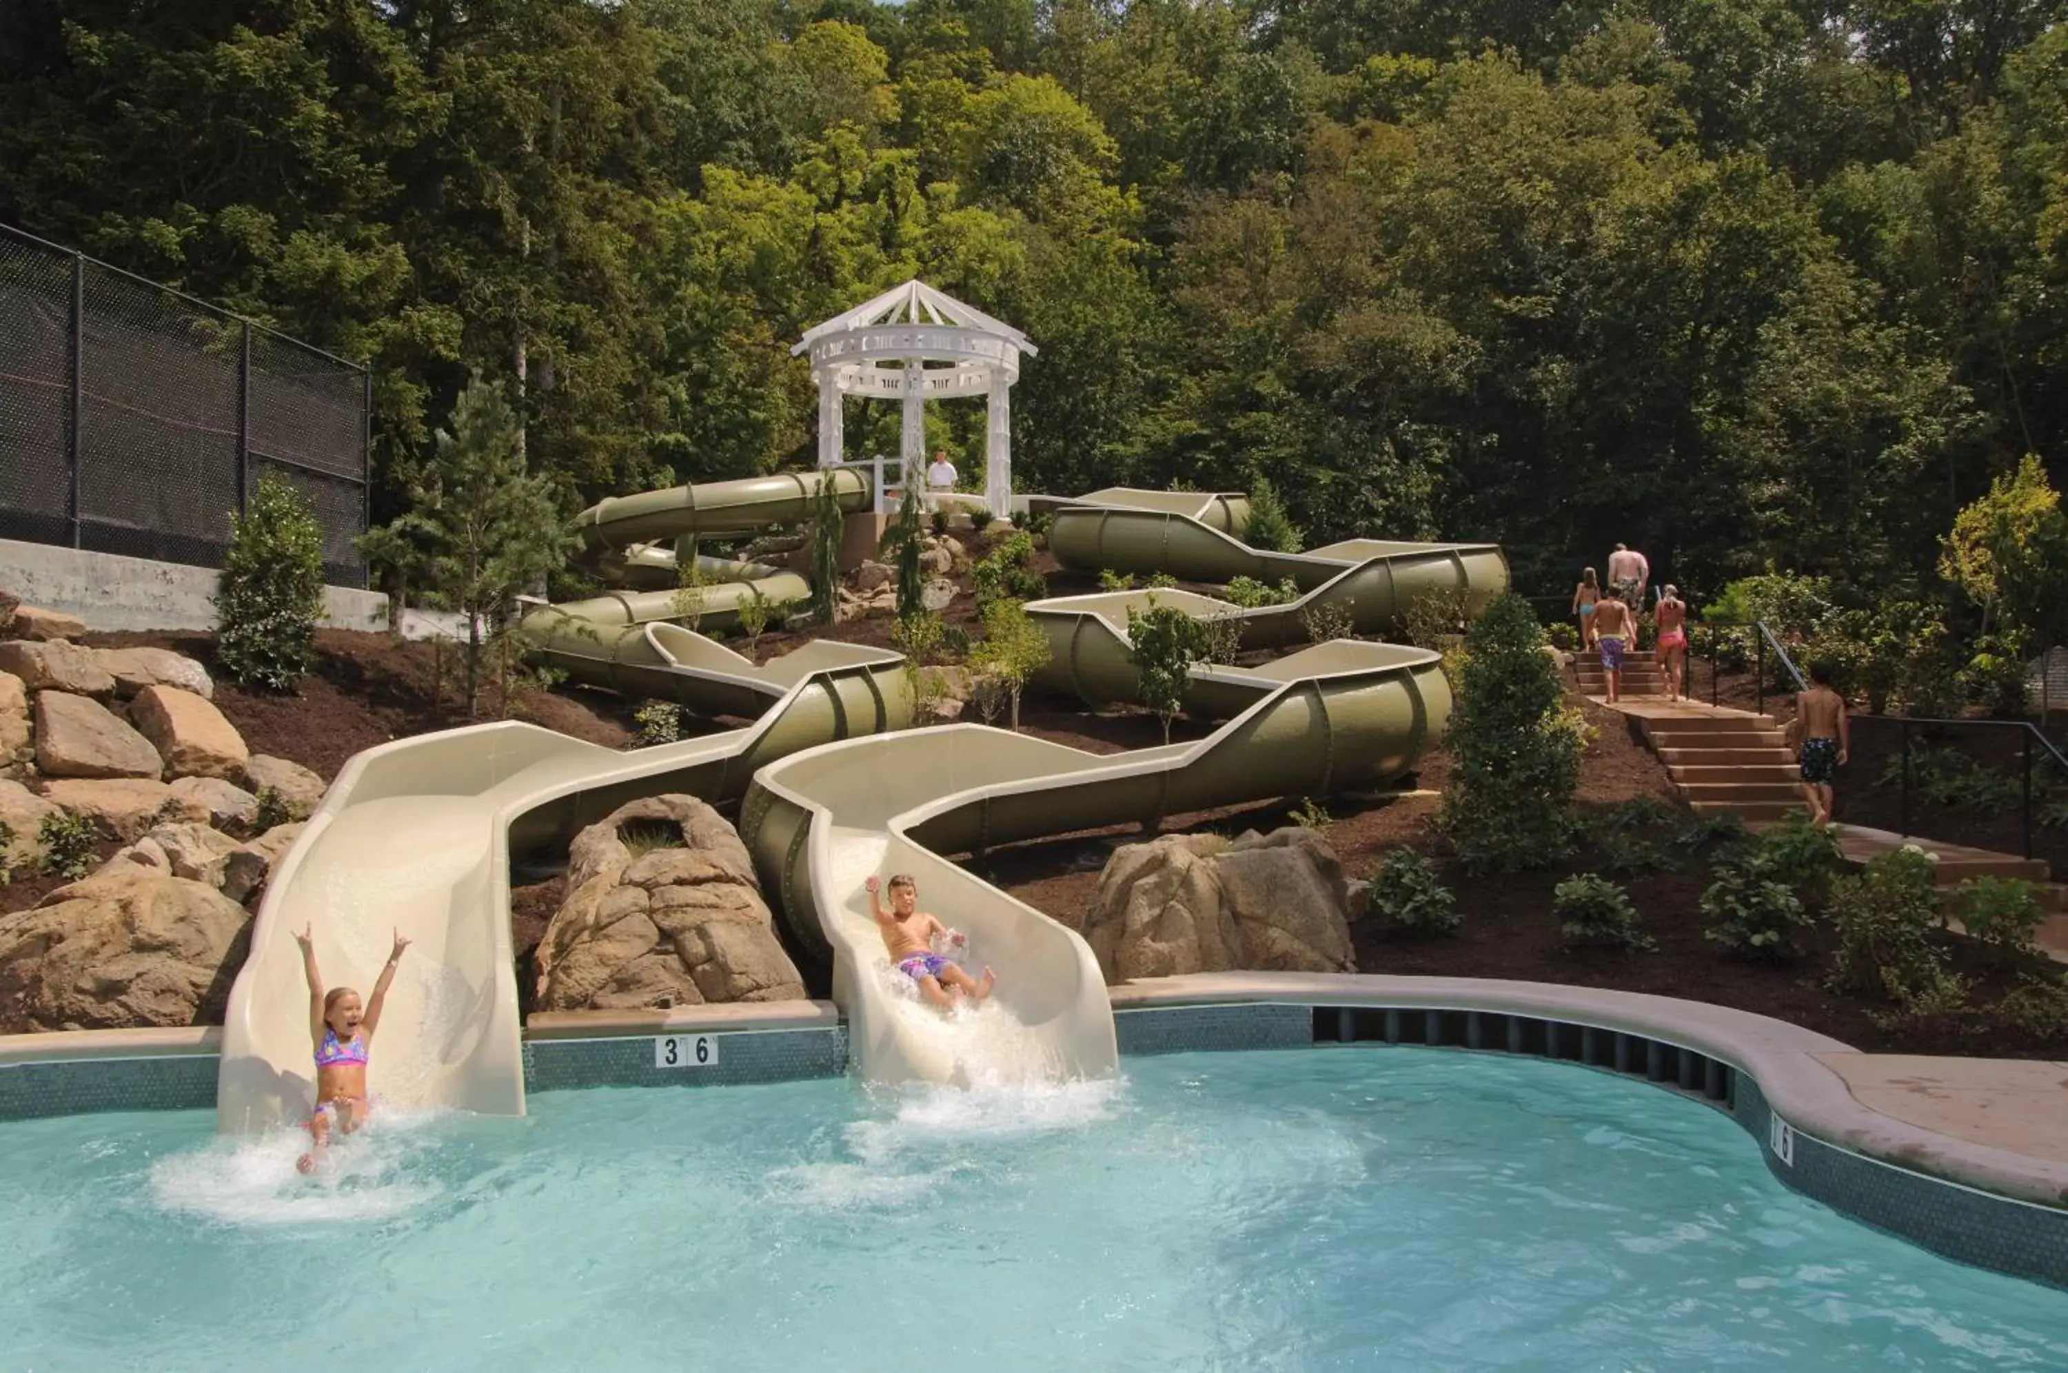
[[[275,471],[364,587],[368,372],[0,225],[0,538],[221,567]]]

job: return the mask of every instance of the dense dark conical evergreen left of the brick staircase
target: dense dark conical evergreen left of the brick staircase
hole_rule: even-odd
[[[1466,635],[1441,827],[1468,871],[1537,868],[1572,852],[1584,724],[1528,602],[1503,596]]]

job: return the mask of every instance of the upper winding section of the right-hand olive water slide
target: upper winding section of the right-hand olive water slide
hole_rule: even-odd
[[[1499,544],[1402,544],[1344,540],[1286,554],[1241,542],[1249,498],[1241,494],[1106,488],[1077,498],[1036,496],[1053,513],[1048,552],[1077,571],[1170,573],[1181,581],[1226,583],[1253,577],[1292,581],[1301,596],[1284,606],[1241,608],[1197,591],[1098,591],[1028,602],[1028,616],[1048,637],[1048,664],[1034,682],[1088,705],[1139,699],[1129,658],[1127,612],[1175,606],[1202,620],[1233,620],[1245,649],[1307,641],[1309,610],[1340,606],[1359,633],[1398,631],[1408,606],[1429,593],[1464,598],[1477,616],[1508,589]],[[1226,718],[1282,682],[1326,670],[1336,645],[1324,643],[1261,668],[1193,668],[1185,709]]]

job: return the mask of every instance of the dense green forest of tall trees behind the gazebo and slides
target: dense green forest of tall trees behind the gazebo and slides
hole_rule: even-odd
[[[1022,490],[1900,589],[2068,432],[2064,8],[4,0],[0,219],[368,358],[376,519],[474,370],[567,511],[809,461],[918,275],[1040,347]]]

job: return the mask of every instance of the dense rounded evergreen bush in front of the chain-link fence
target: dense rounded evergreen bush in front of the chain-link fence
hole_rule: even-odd
[[[294,691],[314,666],[323,525],[285,478],[261,474],[250,509],[230,517],[215,612],[215,660],[240,687]]]

